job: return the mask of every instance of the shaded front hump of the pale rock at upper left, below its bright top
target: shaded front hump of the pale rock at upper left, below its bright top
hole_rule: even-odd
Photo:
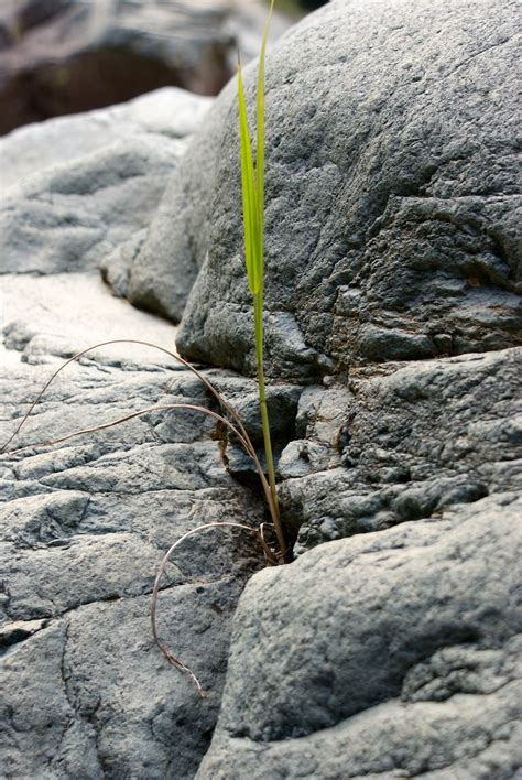
[[[121,142],[74,169],[54,169],[3,198],[4,273],[81,271],[146,226],[176,158],[151,142]],[[28,252],[29,247],[32,252]]]

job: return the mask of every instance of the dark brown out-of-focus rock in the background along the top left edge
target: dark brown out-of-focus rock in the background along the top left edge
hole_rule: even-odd
[[[273,39],[323,2],[278,4]],[[216,95],[237,48],[255,56],[265,13],[264,0],[2,0],[0,134],[163,86]]]

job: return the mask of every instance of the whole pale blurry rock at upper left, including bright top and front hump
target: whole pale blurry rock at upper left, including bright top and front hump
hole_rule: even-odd
[[[0,272],[96,269],[117,292],[126,262],[209,100],[159,90],[126,106],[22,128],[0,142]]]

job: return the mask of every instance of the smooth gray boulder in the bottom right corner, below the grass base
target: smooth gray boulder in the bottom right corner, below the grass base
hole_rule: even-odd
[[[501,494],[257,574],[197,777],[518,777],[521,511]]]

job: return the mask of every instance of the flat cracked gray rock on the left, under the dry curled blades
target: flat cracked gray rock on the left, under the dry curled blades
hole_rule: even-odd
[[[113,299],[94,277],[4,281],[3,314],[19,319],[6,326],[10,348],[0,353],[2,443],[57,356],[121,332],[172,346],[172,325]],[[236,381],[238,398],[244,390]],[[10,448],[174,402],[208,398],[166,356],[123,345],[97,350],[51,386]],[[181,534],[214,520],[263,519],[262,501],[229,476],[221,449],[202,415],[157,412],[1,456],[7,777],[194,777],[217,718],[231,616],[246,578],[262,565],[255,543],[207,532],[182,546],[165,573],[160,632],[208,689],[205,702],[154,647],[150,602],[157,565]]]

